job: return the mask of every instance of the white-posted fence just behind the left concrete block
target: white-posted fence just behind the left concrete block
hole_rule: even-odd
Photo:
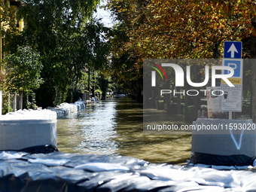
[[[0,115],[17,109],[23,109],[23,94],[3,93],[0,90]]]

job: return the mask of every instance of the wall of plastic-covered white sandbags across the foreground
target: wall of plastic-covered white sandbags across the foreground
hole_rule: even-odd
[[[148,163],[93,154],[0,153],[0,191],[248,191],[253,171]]]

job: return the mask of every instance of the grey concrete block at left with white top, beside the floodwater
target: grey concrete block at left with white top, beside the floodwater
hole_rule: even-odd
[[[0,119],[0,150],[20,150],[39,145],[57,147],[56,112],[23,110]]]

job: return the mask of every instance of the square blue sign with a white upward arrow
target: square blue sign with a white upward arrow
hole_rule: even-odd
[[[224,58],[242,58],[242,42],[224,41]]]

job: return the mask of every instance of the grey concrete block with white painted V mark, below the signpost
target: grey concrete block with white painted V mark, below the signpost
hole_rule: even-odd
[[[256,127],[252,120],[197,119],[193,125],[200,130],[192,131],[192,152],[256,155]]]

